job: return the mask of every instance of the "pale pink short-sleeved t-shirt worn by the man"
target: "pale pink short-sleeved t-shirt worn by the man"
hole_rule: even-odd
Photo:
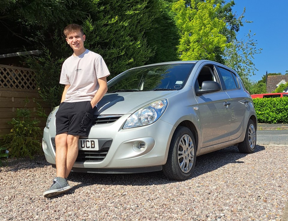
[[[64,102],[91,101],[99,89],[98,78],[109,75],[101,55],[88,49],[77,57],[68,57],[60,76],[60,84],[70,85]]]

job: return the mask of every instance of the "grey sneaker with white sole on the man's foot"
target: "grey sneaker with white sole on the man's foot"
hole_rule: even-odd
[[[67,179],[64,179],[62,177],[55,177],[53,179],[53,184],[52,186],[49,188],[49,190],[46,190],[43,193],[44,197],[53,197],[53,196],[57,196],[61,193],[64,193],[68,190],[70,190],[71,187],[67,182]]]

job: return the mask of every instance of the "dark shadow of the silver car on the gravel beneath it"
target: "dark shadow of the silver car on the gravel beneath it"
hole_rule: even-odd
[[[256,145],[255,152],[265,150],[264,146]],[[239,159],[245,157],[247,154],[239,153],[238,148],[235,146],[226,147],[221,150],[217,150],[211,153],[207,153],[198,156],[196,159],[196,165],[194,172],[190,179],[193,179],[202,174],[217,170],[218,168],[235,163],[244,163]],[[162,171],[150,172],[150,173],[131,173],[131,174],[101,174],[101,173],[74,173],[71,172],[68,180],[73,182],[80,182],[75,185],[72,191],[89,185],[132,185],[132,186],[146,186],[146,185],[163,185],[174,182],[167,179]]]

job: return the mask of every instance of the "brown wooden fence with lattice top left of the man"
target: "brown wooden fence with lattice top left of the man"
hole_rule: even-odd
[[[29,100],[27,104],[24,101],[26,99]],[[0,135],[10,132],[12,126],[7,122],[16,117],[17,108],[24,108],[25,105],[32,111],[32,118],[41,121],[39,126],[44,129],[46,119],[36,115],[36,100],[41,103],[48,115],[51,107],[43,102],[36,90],[34,71],[29,68],[0,64]]]

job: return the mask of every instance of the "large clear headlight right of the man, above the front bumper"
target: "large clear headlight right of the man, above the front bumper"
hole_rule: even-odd
[[[167,105],[168,100],[162,99],[144,106],[127,119],[123,129],[153,124],[164,113]]]

